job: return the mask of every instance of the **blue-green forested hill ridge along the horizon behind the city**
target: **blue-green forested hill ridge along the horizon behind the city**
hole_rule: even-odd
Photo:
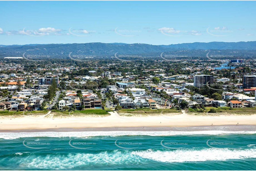
[[[172,45],[149,45],[142,43],[72,43],[72,44],[31,44],[31,45],[0,45],[0,58],[7,56],[20,56],[27,52],[30,55],[50,55],[53,57],[64,57],[70,52],[73,54],[93,55],[93,56],[113,56],[118,54],[136,54],[143,56],[154,56],[162,52],[182,51],[204,51],[220,50],[238,51],[242,54],[246,52],[254,54],[256,51],[256,41],[253,42],[209,42],[209,43],[182,43]],[[185,54],[184,54],[185,53]],[[190,55],[188,55],[190,56]]]

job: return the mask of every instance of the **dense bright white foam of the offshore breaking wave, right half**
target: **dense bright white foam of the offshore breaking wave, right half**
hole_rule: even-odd
[[[133,151],[131,154],[159,162],[201,162],[256,158],[256,149],[177,149],[174,151]]]

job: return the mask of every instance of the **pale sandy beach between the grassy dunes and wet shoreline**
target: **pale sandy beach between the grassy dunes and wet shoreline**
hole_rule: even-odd
[[[0,130],[19,129],[59,129],[59,128],[113,128],[113,127],[186,127],[186,126],[220,126],[256,125],[255,115],[197,116],[180,115],[158,116],[120,116],[110,112],[104,117],[53,117],[51,114],[39,116],[1,116]]]

